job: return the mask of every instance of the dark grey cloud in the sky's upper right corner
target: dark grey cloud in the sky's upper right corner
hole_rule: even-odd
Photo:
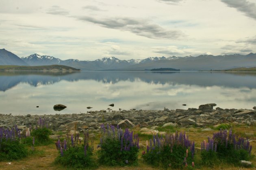
[[[247,17],[256,19],[256,4],[248,0],[221,0],[229,7],[236,8],[237,11],[244,13]]]

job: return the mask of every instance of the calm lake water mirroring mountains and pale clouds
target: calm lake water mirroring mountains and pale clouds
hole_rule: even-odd
[[[112,103],[114,107],[108,106]],[[187,109],[206,103],[252,109],[256,106],[256,73],[0,72],[1,114],[86,113],[107,108]],[[54,104],[67,108],[55,111]]]

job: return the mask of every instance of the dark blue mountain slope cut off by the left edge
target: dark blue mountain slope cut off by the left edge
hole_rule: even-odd
[[[5,49],[0,49],[0,65],[28,66],[20,57]]]

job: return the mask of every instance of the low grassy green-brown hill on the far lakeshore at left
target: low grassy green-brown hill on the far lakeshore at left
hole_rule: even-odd
[[[80,69],[63,65],[50,66],[0,66],[0,70],[19,70],[19,71],[79,71]]]

